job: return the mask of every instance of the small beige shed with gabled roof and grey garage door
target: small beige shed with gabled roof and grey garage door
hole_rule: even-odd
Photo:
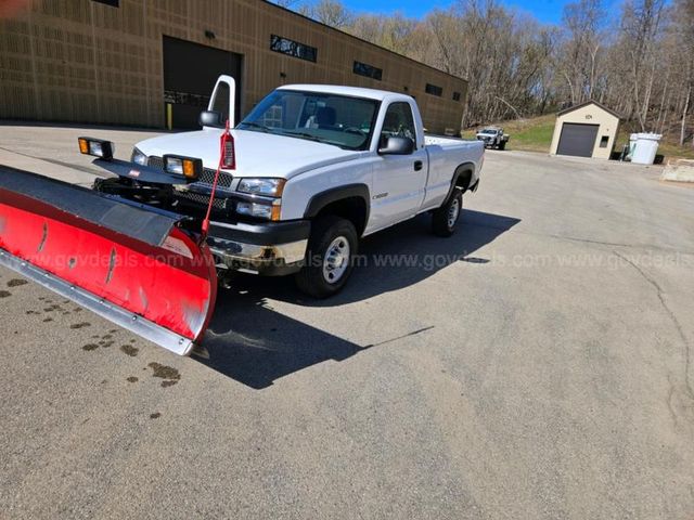
[[[573,155],[609,159],[619,115],[596,101],[587,101],[556,114],[552,135],[552,155]]]

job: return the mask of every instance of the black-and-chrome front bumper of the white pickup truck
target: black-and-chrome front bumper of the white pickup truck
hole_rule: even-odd
[[[207,244],[220,269],[277,276],[301,269],[310,232],[308,220],[211,222]]]

